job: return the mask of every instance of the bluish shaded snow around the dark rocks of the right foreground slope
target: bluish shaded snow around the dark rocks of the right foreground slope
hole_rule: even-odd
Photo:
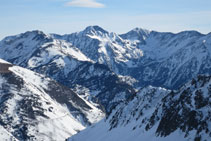
[[[207,80],[205,85],[198,84],[197,87],[190,83],[185,85],[180,91],[185,89],[192,90],[193,96],[195,92],[202,88],[203,94],[208,94],[211,80]],[[204,83],[202,81],[202,83]],[[192,141],[196,137],[196,130],[191,130],[187,135],[179,128],[166,137],[161,137],[156,134],[159,122],[146,131],[145,127],[156,107],[159,107],[163,101],[162,98],[169,94],[169,90],[164,88],[147,87],[140,90],[136,97],[128,103],[120,103],[107,119],[101,120],[99,123],[86,128],[80,133],[69,138],[69,141]],[[177,93],[177,95],[180,95]],[[210,94],[210,93],[209,93]],[[209,99],[208,95],[204,97]],[[174,97],[178,98],[178,97]],[[175,99],[174,99],[175,100]],[[192,98],[194,101],[194,97]],[[194,105],[194,104],[193,104]],[[187,105],[186,105],[187,106]],[[191,106],[194,110],[194,106]],[[203,107],[203,117],[209,117],[207,109]],[[196,108],[195,108],[196,109]],[[142,115],[139,116],[140,111]],[[206,111],[206,112],[205,112]],[[158,109],[157,116],[163,114],[162,108]],[[200,118],[201,119],[201,118]],[[157,119],[160,120],[159,118]],[[117,124],[117,125],[116,125]],[[112,127],[112,125],[116,125]],[[208,125],[208,130],[210,126]],[[202,140],[209,140],[209,133],[201,134]]]

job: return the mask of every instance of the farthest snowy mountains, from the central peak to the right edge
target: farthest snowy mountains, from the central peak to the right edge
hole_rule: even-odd
[[[90,26],[78,33],[52,37],[72,43],[117,74],[137,79],[137,86],[177,89],[198,74],[211,74],[211,34],[135,28],[118,35]]]

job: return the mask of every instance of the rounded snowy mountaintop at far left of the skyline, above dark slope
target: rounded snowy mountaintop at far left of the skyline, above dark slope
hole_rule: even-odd
[[[56,40],[41,31],[6,37],[0,42],[0,58],[13,64],[36,68],[49,63],[56,67],[74,68],[77,61],[90,61],[70,43]]]

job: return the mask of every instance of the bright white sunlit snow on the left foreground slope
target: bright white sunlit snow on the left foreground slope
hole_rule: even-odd
[[[9,91],[13,93],[14,96],[6,102],[8,106],[7,112],[14,118],[12,121],[14,125],[20,122],[17,115],[17,104],[25,96],[30,96],[28,95],[30,91],[33,96],[38,98],[37,102],[41,103],[42,108],[45,109],[44,114],[49,117],[45,118],[38,115],[36,116],[36,120],[32,120],[28,123],[28,133],[35,135],[36,139],[45,141],[65,140],[85,129],[85,126],[82,125],[82,121],[74,117],[72,115],[74,113],[70,113],[66,105],[59,104],[45,92],[45,89],[48,89],[50,81],[49,78],[18,66],[10,67],[9,70],[24,81],[24,87],[18,91],[15,85],[11,85]],[[2,84],[5,82],[6,81],[0,75],[0,92]],[[101,110],[93,106],[88,101],[84,101],[91,107],[91,110],[89,111],[82,111],[90,123],[96,123],[105,116]],[[74,105],[74,103],[72,104]],[[79,108],[82,109],[82,107]],[[49,111],[49,109],[51,110]],[[39,110],[39,108],[36,109],[36,107],[33,107],[33,110]],[[7,136],[5,133],[2,134]]]

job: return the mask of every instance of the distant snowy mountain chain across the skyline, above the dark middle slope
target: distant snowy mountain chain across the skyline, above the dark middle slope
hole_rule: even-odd
[[[43,66],[37,72],[55,74],[55,67],[63,68],[65,77],[78,62],[104,64],[138,80],[138,87],[177,89],[198,74],[211,74],[211,34],[197,31],[173,34],[135,28],[118,35],[99,26],[66,35],[32,31],[6,37],[0,52],[1,58],[16,65],[35,71]]]

